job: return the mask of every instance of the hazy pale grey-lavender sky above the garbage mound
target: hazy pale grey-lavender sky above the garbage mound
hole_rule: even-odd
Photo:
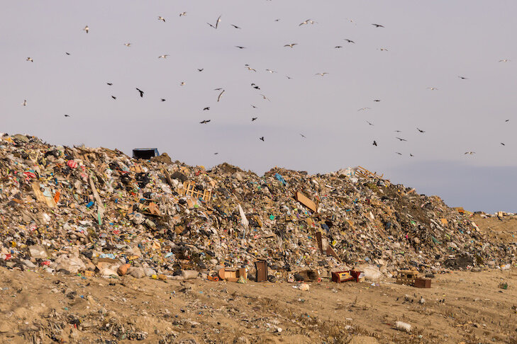
[[[3,1],[0,132],[260,175],[363,166],[451,207],[517,212],[515,13],[512,0]]]

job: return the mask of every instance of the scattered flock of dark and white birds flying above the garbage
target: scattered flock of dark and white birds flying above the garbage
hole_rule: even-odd
[[[186,11],[183,11],[181,13],[179,13],[179,17],[184,17],[184,16],[187,16],[187,12]],[[214,16],[215,18],[215,16]],[[206,22],[206,25],[207,26],[204,26],[204,28],[206,28],[206,30],[218,30],[219,28],[221,28],[221,25],[223,25],[223,15],[219,15],[217,16],[216,20],[209,23],[209,22]],[[150,18],[150,20],[152,20],[152,18]],[[162,23],[167,23],[167,18],[165,18],[165,16],[156,16],[155,21],[161,21]],[[280,21],[281,19],[278,18],[278,19],[275,19],[274,21],[278,22]],[[357,23],[355,23],[355,21],[353,21],[352,19],[350,18],[344,18],[343,21],[348,21],[350,23],[352,23],[353,25],[357,25]],[[311,18],[308,18],[304,21],[301,21],[300,23],[297,24],[298,27],[302,27],[304,25],[306,26],[311,26],[311,25],[316,25],[318,24],[318,21],[314,21],[313,19]],[[201,27],[202,23],[200,23],[200,27]],[[231,28],[235,29],[235,30],[246,30],[245,26],[241,26],[241,25],[236,25],[234,23],[228,23],[227,25],[229,25]],[[296,23],[293,24],[294,26],[296,26]],[[388,25],[387,25],[388,26]],[[389,30],[389,27],[385,27],[384,25],[382,24],[379,24],[379,23],[371,23],[371,26],[369,26],[369,28],[371,28],[371,30]],[[78,31],[80,29],[80,26],[79,28],[77,28]],[[87,35],[89,34],[90,32],[90,28],[89,28],[89,25],[85,25],[84,28],[82,28],[82,30],[84,31],[84,35]],[[80,31],[79,31],[80,32]],[[354,46],[357,46],[358,44],[355,42],[355,40],[352,40],[350,38],[340,38],[341,41],[345,42],[344,45],[346,45],[347,47],[354,47]],[[131,42],[123,42],[122,43],[123,45],[125,45],[126,47],[128,48],[131,48],[133,43]],[[284,48],[289,48],[288,50],[296,50],[298,47],[299,47],[299,43],[298,42],[286,42],[286,44],[283,45]],[[334,46],[334,49],[343,49],[344,45],[335,45]],[[247,49],[247,47],[243,46],[243,45],[234,45],[234,47],[236,47],[238,50],[245,50]],[[331,48],[331,47],[330,47]],[[386,48],[386,47],[380,47],[378,50],[382,51],[382,52],[389,52],[389,50]],[[66,55],[71,55],[70,52],[65,52]],[[157,59],[167,59],[167,57],[169,57],[170,55],[169,54],[163,54],[163,55],[159,55],[157,56]],[[35,62],[35,59],[33,57],[26,57],[26,61],[27,62],[30,62],[30,63],[34,63]],[[500,59],[499,60],[500,63],[508,63],[508,62],[511,62],[510,59]],[[244,64],[244,68],[248,71],[248,72],[252,72],[252,73],[257,73],[257,68],[255,67],[252,67],[250,64]],[[201,68],[197,68],[196,69],[197,72],[199,73],[202,73],[204,71],[204,67],[201,67]],[[278,71],[277,70],[274,70],[274,69],[263,69],[262,72],[267,72],[269,74],[277,74]],[[321,72],[316,72],[313,74],[313,77],[314,76],[317,76],[317,77],[321,77],[321,78],[328,78],[328,77],[331,77],[332,76],[332,71],[321,71]],[[286,75],[286,78],[287,79],[293,79],[291,78],[291,76],[288,76]],[[469,78],[467,78],[466,76],[462,76],[462,75],[458,75],[457,76],[458,79],[460,79],[462,82],[465,81],[465,82],[469,82]],[[106,82],[106,81],[104,81]],[[113,82],[109,81],[109,82],[106,82],[106,85],[107,86],[113,86]],[[187,81],[181,81],[179,86],[187,86]],[[254,90],[261,90],[261,87],[255,83],[252,83],[251,84],[251,88],[254,89]],[[435,87],[435,86],[428,86],[426,88],[428,91],[439,91],[440,88],[438,87]],[[145,91],[143,91],[143,89],[140,88],[140,86],[135,86],[135,96],[136,97],[140,97],[140,98],[143,98],[145,96]],[[214,99],[216,99],[216,102],[219,103],[221,101],[224,100],[223,96],[225,95],[225,92],[226,92],[226,89],[224,88],[214,88],[213,91],[217,91],[216,93],[216,96],[214,96]],[[265,92],[267,93],[267,92]],[[263,93],[257,93],[258,96],[260,96],[260,98],[262,98],[262,101],[267,101],[267,102],[271,102],[271,100],[269,99],[268,96],[266,96],[265,94]],[[113,99],[113,101],[116,101],[117,100],[117,97],[114,96],[114,95],[110,95],[111,96],[111,99]],[[164,102],[166,101],[165,98],[160,98],[160,101],[161,102]],[[372,99],[372,102],[374,103],[380,103],[382,101],[382,99],[379,99],[379,98],[374,98]],[[21,103],[21,105],[23,105],[24,107],[28,105],[28,101],[27,99],[23,100],[23,103]],[[257,108],[256,105],[251,105],[251,107],[253,109]],[[202,108],[202,112],[205,113],[205,112],[208,112],[211,110],[211,106],[203,106],[201,107]],[[368,106],[365,106],[363,108],[359,108],[357,109],[357,112],[364,112],[366,113],[368,110],[372,110],[372,108],[369,108]],[[69,114],[65,114],[64,115],[65,117],[70,117]],[[255,122],[256,120],[258,120],[259,117],[258,116],[255,116],[255,117],[251,117],[251,120],[250,122]],[[204,120],[201,120],[199,122],[199,124],[201,125],[209,125],[209,123],[212,122],[212,118],[206,118]],[[509,122],[510,120],[505,120],[504,122]],[[371,122],[371,121],[368,121],[368,120],[365,120],[365,122],[367,123],[368,126],[374,126],[374,122]],[[419,134],[426,134],[426,130],[422,130],[420,129],[419,127],[415,127],[415,130],[419,133]],[[404,138],[404,135],[402,133],[401,130],[394,130],[394,132],[396,133],[400,133],[398,136],[394,136],[394,139],[398,140],[399,144],[404,144],[405,142],[408,142],[408,139]],[[300,137],[301,139],[307,139],[306,135],[304,134],[301,134],[300,133]],[[260,137],[257,137],[258,140],[262,141],[262,142],[265,142],[265,136],[262,135]],[[379,145],[382,144],[382,142],[379,142],[379,139],[378,138],[375,138],[375,137],[372,137],[372,145],[374,147],[379,147]],[[501,146],[506,146],[506,144],[504,142],[500,142],[500,145]],[[214,154],[218,154],[218,152],[214,153]],[[397,155],[403,155],[401,152],[399,152],[398,150],[394,151],[394,154],[397,154]],[[475,151],[465,151],[465,153],[463,153],[463,155],[466,155],[466,156],[472,156],[473,154],[476,154]],[[408,156],[410,157],[413,157],[414,155],[412,153],[409,153]]]

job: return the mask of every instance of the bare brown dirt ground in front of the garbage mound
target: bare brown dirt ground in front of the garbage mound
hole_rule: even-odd
[[[0,268],[0,343],[517,343],[516,270],[293,285]]]

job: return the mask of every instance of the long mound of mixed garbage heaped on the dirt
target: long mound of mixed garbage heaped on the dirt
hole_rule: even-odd
[[[389,276],[505,265],[516,251],[439,197],[364,168],[257,176],[21,134],[0,140],[0,228],[0,265],[104,277],[252,276],[261,259],[269,280],[365,265]]]

